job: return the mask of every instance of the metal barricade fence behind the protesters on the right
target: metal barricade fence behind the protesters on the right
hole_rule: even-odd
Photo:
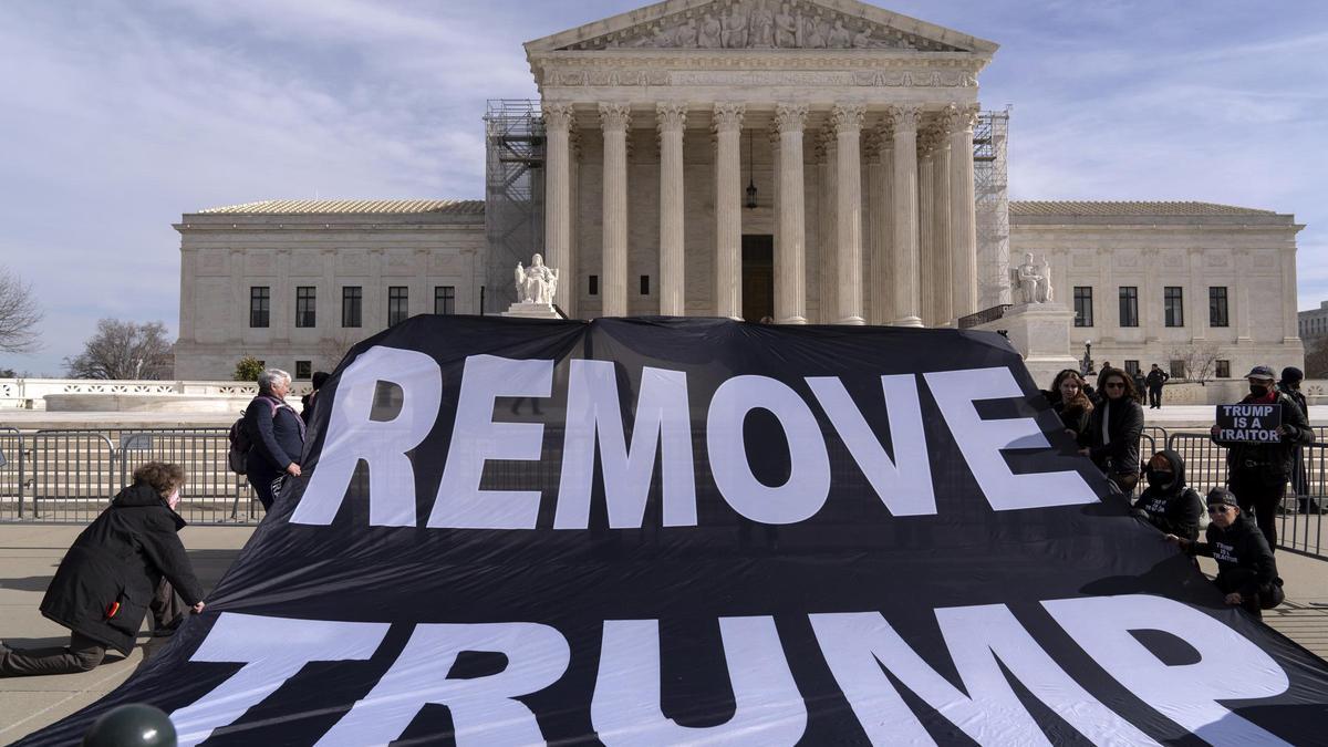
[[[1278,548],[1328,560],[1324,545],[1324,505],[1328,498],[1328,428],[1317,427],[1315,444],[1301,447],[1278,506]],[[1207,432],[1173,433],[1169,448],[1185,459],[1186,481],[1201,496],[1227,484],[1227,449]]]

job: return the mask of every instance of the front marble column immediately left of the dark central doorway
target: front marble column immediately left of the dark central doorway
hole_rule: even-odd
[[[714,314],[742,318],[742,104],[716,104]]]

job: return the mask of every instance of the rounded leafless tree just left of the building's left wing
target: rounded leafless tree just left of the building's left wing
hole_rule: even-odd
[[[102,319],[84,351],[65,359],[65,371],[76,379],[161,379],[173,363],[166,324]]]

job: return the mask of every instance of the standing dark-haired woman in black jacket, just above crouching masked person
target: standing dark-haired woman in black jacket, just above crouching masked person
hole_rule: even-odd
[[[1106,477],[1130,494],[1139,482],[1139,433],[1143,408],[1134,397],[1134,381],[1120,368],[1098,376],[1102,400],[1089,420],[1088,456]]]

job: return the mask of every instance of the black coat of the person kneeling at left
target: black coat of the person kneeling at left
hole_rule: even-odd
[[[183,526],[151,486],[125,488],[60,561],[41,614],[127,655],[163,576],[186,605],[203,599],[177,536]]]

